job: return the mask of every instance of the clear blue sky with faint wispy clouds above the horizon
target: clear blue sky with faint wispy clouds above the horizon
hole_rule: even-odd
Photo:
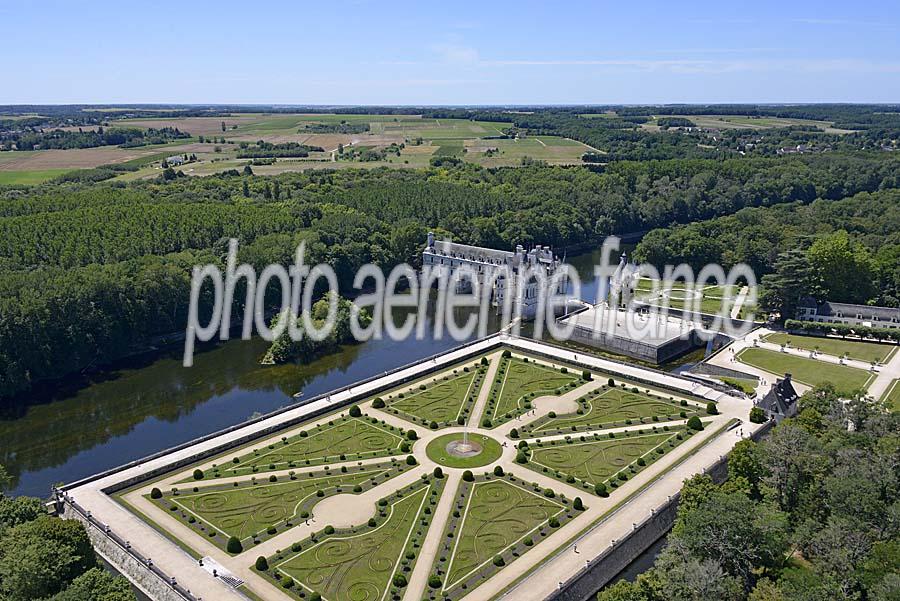
[[[897,0],[0,0],[0,24],[0,104],[900,101]]]

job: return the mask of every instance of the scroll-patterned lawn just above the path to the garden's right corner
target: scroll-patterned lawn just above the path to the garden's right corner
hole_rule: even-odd
[[[580,398],[578,403],[579,411],[582,412],[580,415],[567,414],[556,418],[542,418],[533,428],[525,427],[521,429],[521,432],[537,436],[545,433],[573,431],[573,427],[576,430],[610,428],[628,425],[628,421],[640,423],[642,418],[683,419],[682,411],[685,411],[685,417],[696,415],[699,412],[698,407],[694,405],[681,407],[678,401],[670,401],[645,392],[633,392],[631,389],[608,386]]]

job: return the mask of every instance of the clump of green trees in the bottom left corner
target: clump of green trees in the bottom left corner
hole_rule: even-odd
[[[0,599],[134,601],[128,581],[98,561],[81,522],[47,515],[41,499],[9,497],[0,465]]]

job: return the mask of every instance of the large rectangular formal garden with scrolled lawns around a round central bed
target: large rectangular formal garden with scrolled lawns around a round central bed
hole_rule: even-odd
[[[417,591],[458,599],[552,548],[541,545],[715,413],[690,395],[493,352],[145,485],[140,511],[194,554],[211,543],[303,601],[400,599],[428,541]]]

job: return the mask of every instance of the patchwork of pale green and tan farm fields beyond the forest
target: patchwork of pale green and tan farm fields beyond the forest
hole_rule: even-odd
[[[250,159],[238,158],[241,144],[263,141],[297,143],[321,148],[302,158],[277,158],[272,165],[253,166],[260,175],[276,175],[306,169],[426,167],[432,156],[459,158],[487,167],[517,166],[523,160],[554,165],[581,164],[591,149],[580,142],[556,136],[499,139],[508,123],[468,119],[423,119],[420,115],[265,114],[241,113],[220,117],[165,117],[113,119],[112,126],[178,128],[191,138],[168,144],[119,148],[38,150],[0,154],[0,184],[39,183],[67,171],[108,164],[147,160],[137,172],[120,179],[153,178],[160,174],[163,158],[196,154],[197,161],[180,167],[187,175],[203,176],[228,169],[242,170]],[[90,129],[90,128],[88,128]],[[200,139],[203,143],[200,143]],[[493,138],[493,139],[492,139]],[[339,149],[366,148],[380,152],[400,146],[399,155],[368,156],[365,160]],[[59,171],[51,171],[59,170]],[[4,172],[14,172],[4,177]],[[34,172],[34,175],[28,175]]]

